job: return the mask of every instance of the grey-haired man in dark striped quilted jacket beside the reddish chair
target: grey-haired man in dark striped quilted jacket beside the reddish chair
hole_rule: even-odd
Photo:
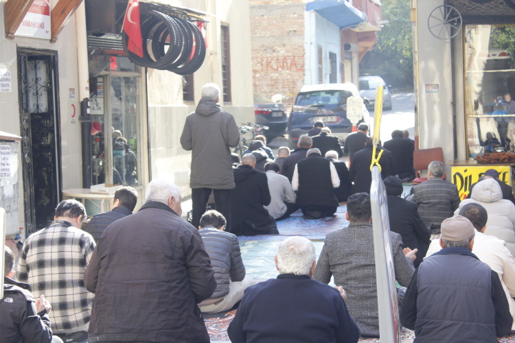
[[[431,233],[438,234],[440,225],[447,218],[453,217],[459,207],[458,188],[453,183],[442,180],[444,163],[429,163],[428,180],[413,186],[411,196],[407,198],[418,204],[418,214]]]

